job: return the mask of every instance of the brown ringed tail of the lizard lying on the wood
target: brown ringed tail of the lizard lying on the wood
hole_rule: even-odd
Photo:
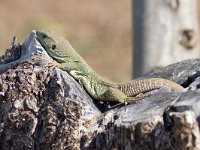
[[[118,85],[119,90],[128,97],[136,96],[140,93],[145,93],[162,87],[169,87],[172,91],[182,91],[184,89],[179,84],[162,78],[135,80],[130,83],[121,83]]]

